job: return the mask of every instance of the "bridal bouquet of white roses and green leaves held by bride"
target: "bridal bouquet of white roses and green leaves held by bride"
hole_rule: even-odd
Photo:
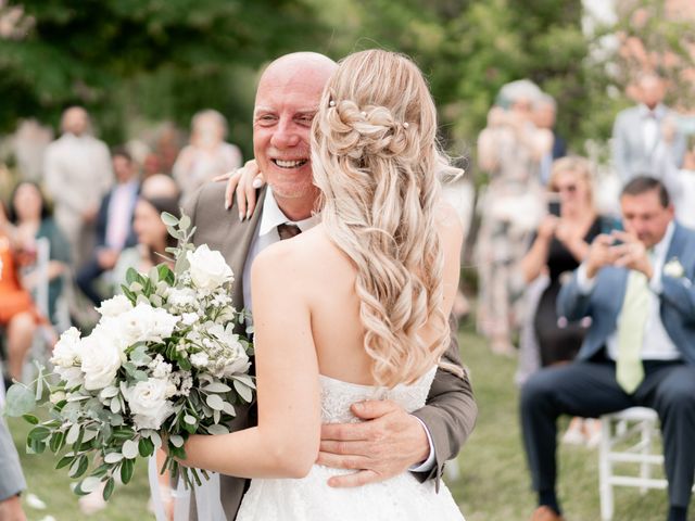
[[[251,345],[235,333],[245,317],[231,306],[231,269],[219,252],[193,247],[187,216],[162,219],[179,240],[167,250],[174,270],[128,270],[124,294],[101,304],[90,334],[71,328],[61,335],[50,360],[55,372],[39,367],[35,382],[8,391],[7,414],[36,425],[28,452],[60,455],[56,468],[80,479],[80,495],[105,482],[108,499],[115,478],[128,483],[136,459],[163,443],[165,467],[188,486],[200,484],[199,471],[175,459],[186,458],[184,443],[190,434],[227,433],[233,406],[252,399]],[[48,408],[45,421],[29,414],[37,404]]]

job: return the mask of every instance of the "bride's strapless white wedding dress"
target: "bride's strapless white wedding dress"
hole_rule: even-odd
[[[358,421],[350,406],[363,399],[391,399],[408,411],[419,409],[434,378],[435,368],[412,385],[392,390],[358,385],[320,376],[321,420],[325,423]],[[417,481],[409,472],[388,481],[355,488],[331,488],[331,475],[348,473],[315,465],[300,480],[252,480],[237,521],[464,521],[448,488],[434,481]]]

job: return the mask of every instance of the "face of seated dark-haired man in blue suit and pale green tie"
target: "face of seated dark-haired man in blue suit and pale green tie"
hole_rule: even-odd
[[[626,231],[634,233],[646,247],[652,247],[664,239],[666,229],[673,219],[673,206],[661,206],[656,190],[639,195],[622,195],[620,206]]]

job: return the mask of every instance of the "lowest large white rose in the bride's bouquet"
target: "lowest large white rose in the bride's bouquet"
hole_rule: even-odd
[[[135,386],[126,390],[124,394],[130,412],[135,415],[132,420],[137,430],[157,430],[164,420],[174,412],[172,403],[166,399],[168,391],[168,381],[157,378],[138,382]]]

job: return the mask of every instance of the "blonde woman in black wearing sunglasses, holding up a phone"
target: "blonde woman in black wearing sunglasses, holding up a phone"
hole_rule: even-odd
[[[518,383],[539,367],[566,364],[579,352],[591,321],[568,321],[557,315],[555,302],[565,277],[582,262],[593,239],[611,225],[596,212],[587,160],[570,156],[555,161],[548,188],[548,214],[521,260],[529,284],[529,317],[521,333]],[[564,441],[594,445],[598,429],[593,420],[574,418]]]

